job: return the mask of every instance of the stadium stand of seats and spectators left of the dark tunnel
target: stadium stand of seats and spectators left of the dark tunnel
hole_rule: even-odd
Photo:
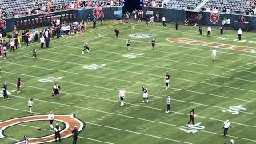
[[[0,18],[96,6],[122,6],[122,0],[0,0]]]

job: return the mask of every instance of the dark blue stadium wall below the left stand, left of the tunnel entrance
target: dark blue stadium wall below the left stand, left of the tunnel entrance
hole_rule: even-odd
[[[58,17],[61,20],[66,19],[67,22],[75,22],[85,20],[87,18],[87,14],[90,13],[90,19],[92,20],[93,10],[93,8],[82,10],[65,10],[61,12],[30,15],[19,18],[7,18],[1,20],[1,23],[3,23],[2,26],[4,27],[5,32],[12,31],[14,25],[18,28],[18,30],[24,30],[36,27],[50,26],[51,19],[54,17]],[[119,19],[122,18],[122,7],[106,7],[103,8],[103,13],[105,16],[104,19]]]

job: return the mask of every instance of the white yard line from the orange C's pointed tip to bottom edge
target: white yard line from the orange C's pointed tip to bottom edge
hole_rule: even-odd
[[[173,141],[173,142],[192,144],[190,142],[182,142],[182,141],[174,140],[174,139],[171,139],[171,138],[159,137],[159,136],[155,136],[155,135],[151,135],[151,134],[143,134],[143,133],[138,133],[138,132],[134,132],[134,131],[130,131],[130,130],[122,130],[122,129],[118,129],[118,128],[115,128],[115,127],[112,127],[112,126],[103,126],[103,125],[99,125],[99,124],[92,123],[92,122],[88,122],[88,124],[89,125],[94,125],[94,126],[106,127],[106,128],[113,129],[113,130],[121,130],[121,131],[125,131],[125,132],[132,133],[132,134],[140,134],[140,135],[144,135],[144,136],[148,136],[148,137],[165,139],[165,140],[169,140],[169,141]]]

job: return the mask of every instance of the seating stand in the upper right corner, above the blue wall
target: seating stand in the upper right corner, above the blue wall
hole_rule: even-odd
[[[237,14],[254,14],[255,1],[253,0],[210,0],[202,7],[206,12],[224,12]]]

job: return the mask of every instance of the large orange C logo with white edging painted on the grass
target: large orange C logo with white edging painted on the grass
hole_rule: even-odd
[[[47,119],[48,119],[47,115],[34,115],[34,116],[27,116],[27,117],[21,117],[21,118],[14,118],[14,119],[0,122],[0,139],[6,137],[6,135],[4,135],[4,130],[6,130],[10,126],[18,125],[24,122],[47,121]],[[54,121],[63,122],[65,125],[65,128],[60,132],[60,134],[62,135],[62,138],[68,138],[72,136],[71,131],[74,129],[74,126],[77,126],[79,131],[81,131],[84,127],[84,123],[78,118],[75,118],[74,115],[55,115]],[[47,135],[44,137],[38,137],[38,138],[29,138],[29,142],[34,144],[54,142],[54,140],[55,140],[54,134],[50,134],[50,135]],[[16,142],[16,143],[22,144],[24,142]]]

